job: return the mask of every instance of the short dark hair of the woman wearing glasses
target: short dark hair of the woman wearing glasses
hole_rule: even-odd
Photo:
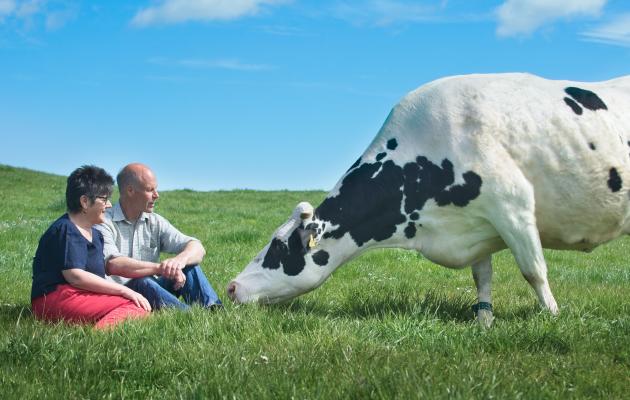
[[[114,179],[103,168],[83,165],[70,174],[66,185],[66,207],[71,213],[81,211],[81,196],[92,202],[97,196],[110,197]]]

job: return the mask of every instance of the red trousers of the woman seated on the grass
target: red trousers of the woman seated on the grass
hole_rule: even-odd
[[[32,300],[35,318],[43,321],[70,323],[96,323],[96,329],[104,329],[128,318],[141,318],[149,314],[122,296],[89,292],[71,285],[59,285],[57,289]]]

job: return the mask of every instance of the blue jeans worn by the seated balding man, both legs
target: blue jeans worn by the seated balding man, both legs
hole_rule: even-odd
[[[127,282],[127,287],[146,297],[154,310],[162,307],[187,310],[190,304],[208,308],[222,305],[199,265],[189,265],[182,272],[186,275],[186,283],[179,290],[173,289],[174,282],[171,279],[156,279],[153,276],[134,278]],[[183,303],[179,301],[180,296],[184,299]]]

